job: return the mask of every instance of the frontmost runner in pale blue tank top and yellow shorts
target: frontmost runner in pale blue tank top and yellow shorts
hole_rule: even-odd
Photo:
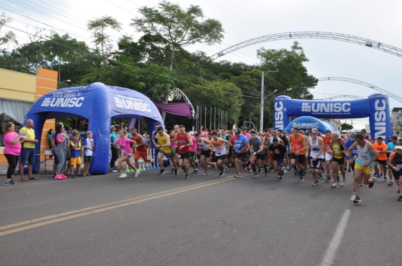
[[[374,149],[373,144],[365,140],[361,133],[356,134],[355,143],[349,147],[347,151],[349,156],[355,147],[357,147],[358,156],[354,170],[354,188],[356,197],[353,203],[359,203],[361,202],[359,181],[363,179],[364,184],[368,184],[369,188],[373,187],[375,179],[370,178],[370,176],[373,171],[374,161],[378,158],[378,153]]]

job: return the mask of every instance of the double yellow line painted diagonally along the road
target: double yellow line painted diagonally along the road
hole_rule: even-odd
[[[186,191],[190,191],[190,190],[194,190],[194,189],[198,189],[198,188],[202,188],[202,187],[206,187],[206,186],[210,186],[210,185],[214,185],[214,184],[219,184],[219,183],[226,182],[226,181],[233,180],[233,179],[235,179],[233,176],[229,176],[229,177],[225,177],[225,178],[218,179],[218,180],[212,180],[212,181],[208,181],[208,182],[204,182],[204,183],[180,187],[177,189],[171,189],[171,190],[162,191],[162,192],[158,192],[158,193],[152,193],[152,194],[148,194],[148,195],[145,195],[142,197],[114,201],[111,203],[96,205],[96,206],[92,206],[92,207],[67,211],[67,212],[54,214],[54,215],[50,215],[50,216],[46,216],[46,217],[41,217],[41,218],[37,218],[37,219],[18,222],[18,223],[14,223],[14,224],[4,225],[4,226],[0,227],[0,230],[33,223],[30,225],[18,227],[15,229],[2,231],[2,232],[0,232],[0,236],[24,231],[24,230],[28,230],[28,229],[32,229],[32,228],[44,226],[47,224],[60,222],[60,221],[70,220],[70,219],[85,216],[88,214],[93,214],[93,213],[103,212],[103,211],[107,211],[107,210],[111,210],[111,209],[115,209],[115,208],[125,207],[125,206],[141,203],[141,202],[152,200],[152,199],[158,199],[158,198],[174,195],[177,193],[182,193],[182,192],[186,192]],[[64,217],[62,217],[62,216],[64,216]],[[42,221],[42,222],[38,222],[38,221]]]

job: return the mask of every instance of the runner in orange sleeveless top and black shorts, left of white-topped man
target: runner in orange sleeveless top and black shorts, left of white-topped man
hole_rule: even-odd
[[[301,134],[299,134],[299,128],[293,128],[293,134],[290,135],[290,143],[291,146],[291,153],[290,153],[290,165],[296,168],[296,162],[298,170],[294,172],[296,176],[298,173],[299,181],[304,182],[305,179],[303,178],[303,172],[305,170],[305,161],[306,161],[306,143],[305,138]]]

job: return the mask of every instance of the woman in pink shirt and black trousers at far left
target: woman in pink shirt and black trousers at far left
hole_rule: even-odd
[[[13,174],[18,164],[18,158],[21,153],[21,132],[18,134],[15,132],[15,126],[13,122],[7,122],[4,128],[4,156],[6,156],[9,162],[9,169],[7,170],[7,180],[4,183],[5,186],[15,186],[16,182],[13,180]]]

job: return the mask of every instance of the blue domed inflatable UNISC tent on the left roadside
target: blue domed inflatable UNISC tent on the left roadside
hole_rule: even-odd
[[[41,136],[46,119],[63,117],[88,120],[88,130],[92,131],[96,146],[89,170],[93,174],[106,174],[109,170],[112,119],[138,118],[144,119],[149,129],[157,122],[164,127],[158,109],[148,97],[99,82],[47,93],[29,110],[24,125],[27,119],[32,119],[35,135]],[[35,148],[38,154],[40,143]],[[39,164],[35,164],[33,171],[38,170]]]

